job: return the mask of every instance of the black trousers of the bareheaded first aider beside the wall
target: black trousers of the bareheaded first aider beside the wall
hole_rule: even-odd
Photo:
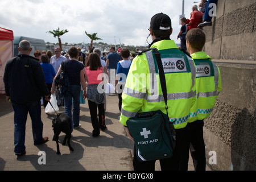
[[[204,120],[197,120],[186,126],[189,133],[189,150],[195,171],[205,171],[206,168],[203,127]]]

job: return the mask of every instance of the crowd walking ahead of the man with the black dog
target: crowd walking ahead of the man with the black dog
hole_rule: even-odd
[[[106,129],[106,96],[105,93],[99,93],[97,90],[98,84],[100,84],[104,78],[98,80],[98,75],[105,73],[105,79],[107,79],[108,75],[110,75],[110,70],[114,69],[115,75],[125,72],[127,76],[131,64],[130,59],[132,59],[130,51],[129,49],[122,49],[120,47],[118,50],[119,53],[117,53],[115,47],[112,46],[109,51],[102,53],[102,55],[101,50],[98,48],[93,48],[91,53],[83,53],[80,47],[71,47],[67,53],[60,51],[60,48],[56,47],[54,55],[51,53],[49,56],[47,52],[51,51],[34,52],[35,58],[39,60],[42,66],[48,90],[51,90],[52,95],[56,95],[58,105],[63,104],[65,114],[68,114],[69,117],[72,118],[72,129],[78,129],[81,126],[81,123],[79,123],[80,104],[85,104],[85,98],[88,100],[93,126],[93,137],[98,137],[100,129]],[[127,61],[129,62],[128,65],[126,64]],[[65,71],[69,77],[70,90],[68,94],[62,93],[61,89],[55,85],[55,77],[59,75],[61,71]],[[88,84],[87,91],[85,81]],[[110,77],[108,81],[110,81]],[[117,83],[118,82],[114,81],[112,84],[116,86]],[[122,80],[121,89],[124,84],[125,80]],[[122,92],[119,93],[119,111],[121,111],[121,95]],[[42,99],[44,108],[46,108],[48,101],[46,98]]]

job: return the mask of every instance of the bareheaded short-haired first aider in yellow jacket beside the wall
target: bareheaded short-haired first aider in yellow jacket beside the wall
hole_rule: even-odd
[[[221,92],[220,69],[203,50],[205,34],[200,28],[192,28],[186,35],[187,50],[196,64],[196,102],[186,126],[190,152],[195,170],[205,171],[205,144],[203,137],[204,119],[212,113],[218,94]],[[188,161],[188,156],[187,159]]]

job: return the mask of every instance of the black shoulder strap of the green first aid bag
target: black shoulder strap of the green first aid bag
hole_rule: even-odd
[[[167,115],[168,115],[166,77],[164,76],[162,60],[161,60],[161,57],[160,57],[160,53],[158,52],[158,49],[153,48],[152,51],[154,51],[156,62],[158,63],[160,84],[161,84],[161,87],[162,87],[164,103],[166,104],[166,112],[167,112]]]

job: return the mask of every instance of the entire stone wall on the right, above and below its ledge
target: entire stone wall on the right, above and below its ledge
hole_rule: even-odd
[[[207,160],[214,170],[256,170],[256,0],[219,0],[204,51],[221,71],[222,92],[205,119]]]

